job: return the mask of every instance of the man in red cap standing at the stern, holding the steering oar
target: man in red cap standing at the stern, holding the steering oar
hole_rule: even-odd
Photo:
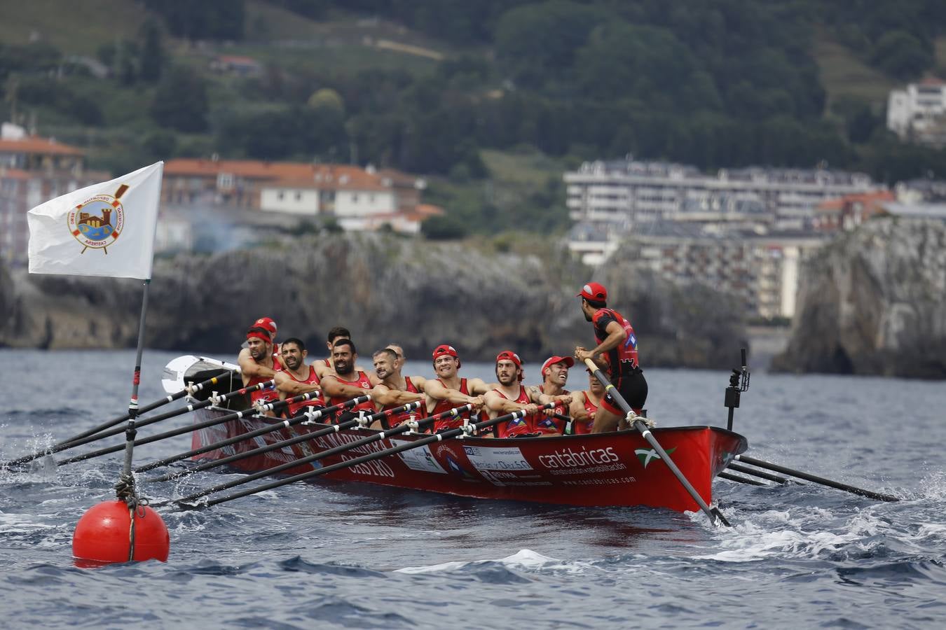
[[[638,336],[631,323],[614,309],[607,308],[607,289],[598,282],[588,282],[575,296],[582,298],[582,313],[594,328],[593,349],[575,348],[575,358],[581,362],[591,359],[606,369],[607,378],[636,414],[640,414],[647,400],[647,381],[638,363]],[[624,413],[610,394],[601,401],[595,416],[594,433],[600,434],[624,428]]]

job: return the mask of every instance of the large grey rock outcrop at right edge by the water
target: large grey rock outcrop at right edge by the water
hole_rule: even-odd
[[[818,252],[773,368],[946,378],[946,226],[874,220]]]

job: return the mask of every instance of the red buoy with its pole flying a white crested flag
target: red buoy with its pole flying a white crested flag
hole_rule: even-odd
[[[152,558],[164,562],[170,547],[164,520],[148,507],[147,499],[138,497],[131,474],[135,418],[139,413],[138,384],[141,383],[141,357],[145,347],[145,319],[163,173],[164,162],[155,162],[121,177],[49,199],[26,213],[29,273],[144,281],[125,431],[125,462],[115,485],[118,500],[94,505],[76,524],[72,549],[73,555],[81,562],[128,562]],[[104,225],[111,230],[103,236],[98,229]],[[94,253],[96,249],[101,249],[102,254]],[[89,255],[84,255],[86,253]],[[125,514],[130,521],[128,529],[120,526]],[[138,549],[135,548],[136,542]],[[126,544],[128,553],[125,553]]]

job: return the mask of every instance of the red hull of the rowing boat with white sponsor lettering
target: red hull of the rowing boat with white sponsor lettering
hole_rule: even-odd
[[[221,417],[225,413],[228,412],[204,409],[194,414],[195,422]],[[193,448],[276,422],[258,417],[224,421],[195,432]],[[233,446],[202,453],[194,459],[221,459],[325,427],[324,424],[311,424],[281,428]],[[349,429],[247,457],[230,466],[257,472],[377,433],[369,429]],[[652,433],[708,503],[712,500],[713,477],[747,448],[744,436],[718,427],[674,427],[655,429]],[[311,464],[289,468],[281,474],[307,472],[420,437],[423,435],[386,437]],[[394,485],[479,499],[590,506],[647,505],[679,512],[699,509],[670,468],[659,459],[657,452],[635,431],[502,440],[479,437],[448,439],[335,470],[324,476],[338,481]]]

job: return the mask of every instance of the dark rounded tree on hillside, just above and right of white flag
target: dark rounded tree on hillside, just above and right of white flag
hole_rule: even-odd
[[[150,113],[164,127],[198,132],[207,129],[209,110],[200,75],[184,66],[173,66],[158,83]]]

